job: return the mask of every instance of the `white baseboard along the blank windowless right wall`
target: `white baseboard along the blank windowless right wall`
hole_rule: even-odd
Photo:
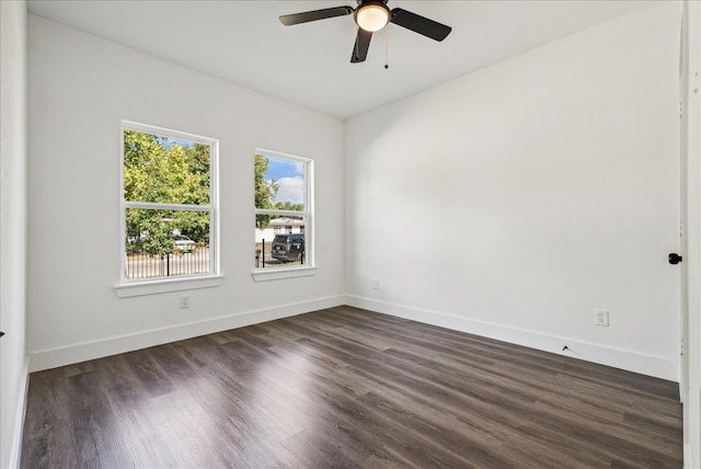
[[[353,295],[346,296],[346,305],[679,382],[674,359]]]

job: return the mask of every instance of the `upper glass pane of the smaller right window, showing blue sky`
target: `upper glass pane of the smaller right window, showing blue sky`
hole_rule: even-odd
[[[255,156],[255,208],[304,210],[304,163]]]

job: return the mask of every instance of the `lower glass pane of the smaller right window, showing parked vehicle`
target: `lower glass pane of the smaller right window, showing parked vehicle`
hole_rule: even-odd
[[[304,217],[273,216],[255,230],[255,267],[280,268],[307,264]]]

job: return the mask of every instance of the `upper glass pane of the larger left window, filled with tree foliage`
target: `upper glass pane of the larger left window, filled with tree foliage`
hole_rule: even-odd
[[[209,204],[210,146],[124,130],[124,199]]]

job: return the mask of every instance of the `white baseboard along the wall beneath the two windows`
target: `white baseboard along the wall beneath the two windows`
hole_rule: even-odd
[[[344,302],[345,297],[342,295],[318,298],[273,308],[238,312],[204,321],[140,331],[134,334],[118,335],[100,341],[83,342],[65,347],[34,351],[30,354],[30,371],[56,368],[58,366],[71,365],[169,342],[182,341],[214,332],[288,318],[319,309],[342,306]]]

